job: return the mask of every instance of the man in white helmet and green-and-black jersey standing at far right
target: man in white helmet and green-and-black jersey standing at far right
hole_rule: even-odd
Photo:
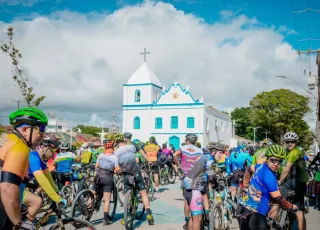
[[[307,191],[307,182],[309,180],[306,172],[306,162],[304,153],[297,147],[299,136],[294,132],[288,132],[284,135],[284,142],[288,149],[285,166],[280,170],[281,175],[279,185],[281,194],[284,197],[288,195],[288,189],[296,191],[293,203],[298,206],[296,216],[300,230],[306,229],[306,219],[304,216],[304,195]]]

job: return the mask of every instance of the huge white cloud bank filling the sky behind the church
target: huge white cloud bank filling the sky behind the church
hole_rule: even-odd
[[[226,15],[226,13],[222,13]],[[307,87],[299,59],[274,27],[228,13],[207,24],[171,4],[147,2],[112,14],[63,11],[13,22],[15,42],[42,107],[60,117],[90,121],[91,113],[121,111],[122,84],[151,51],[148,64],[168,86],[174,73],[196,98],[219,109],[246,106],[263,90],[288,87],[304,94],[290,76]],[[0,23],[0,31],[7,25]],[[6,38],[0,34],[0,40]],[[10,78],[10,61],[0,54],[0,110],[13,109],[19,91]],[[77,114],[77,116],[75,116]],[[84,115],[86,114],[86,115]]]

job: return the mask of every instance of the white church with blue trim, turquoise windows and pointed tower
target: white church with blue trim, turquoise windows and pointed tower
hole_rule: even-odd
[[[146,62],[123,85],[123,132],[133,139],[172,144],[176,149],[188,133],[198,135],[202,146],[209,141],[231,144],[232,123],[228,114],[195,99],[178,82],[162,86]]]

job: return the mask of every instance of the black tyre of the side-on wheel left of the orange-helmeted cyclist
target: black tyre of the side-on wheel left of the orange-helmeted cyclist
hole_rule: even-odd
[[[91,201],[95,201],[94,200],[94,194],[90,189],[85,189],[82,190],[81,192],[78,193],[78,195],[74,198],[72,205],[71,205],[71,209],[70,209],[70,215],[71,217],[76,216],[76,211],[77,211],[77,201],[79,200],[79,204],[84,205],[80,207],[80,213],[85,217],[85,218],[78,218],[78,219],[84,219],[86,221],[90,221],[92,215],[93,215],[93,210],[89,211],[88,210],[88,205],[85,205],[83,203],[83,200],[80,200],[81,196],[83,196],[84,194],[88,195],[91,199]],[[92,203],[92,205],[94,205],[95,202]]]

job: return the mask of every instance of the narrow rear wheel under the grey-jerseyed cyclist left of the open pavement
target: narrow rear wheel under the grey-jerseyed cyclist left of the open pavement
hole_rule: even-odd
[[[132,227],[133,227],[133,221],[134,221],[134,218],[135,218],[135,213],[136,210],[134,207],[134,200],[132,199],[133,198],[133,192],[132,190],[129,190],[127,191],[126,193],[126,196],[124,198],[124,208],[123,208],[123,212],[124,212],[124,215],[123,215],[123,220],[124,220],[124,225],[126,227],[127,230],[131,230]]]

